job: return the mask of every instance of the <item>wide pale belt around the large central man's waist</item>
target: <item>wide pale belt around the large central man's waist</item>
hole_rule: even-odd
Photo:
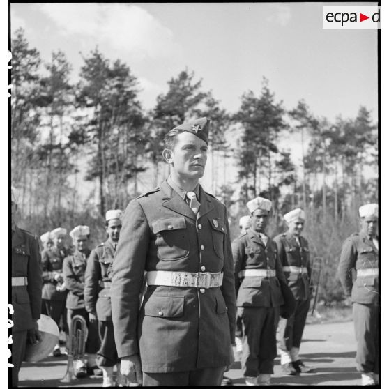
[[[147,272],[148,285],[165,287],[216,288],[223,283],[223,273],[189,273],[156,270]]]

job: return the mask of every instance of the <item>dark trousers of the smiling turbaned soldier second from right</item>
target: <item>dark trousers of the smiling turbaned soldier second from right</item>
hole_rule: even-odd
[[[280,319],[278,324],[278,347],[289,352],[292,347],[300,348],[301,339],[310,310],[310,300],[296,300],[296,310],[289,319]]]

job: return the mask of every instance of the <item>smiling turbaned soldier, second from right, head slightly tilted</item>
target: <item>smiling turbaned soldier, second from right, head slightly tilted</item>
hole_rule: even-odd
[[[288,230],[274,238],[278,257],[289,288],[296,299],[296,310],[289,319],[280,319],[279,349],[282,371],[289,375],[312,372],[298,355],[305,321],[310,310],[310,250],[307,240],[301,236],[305,213],[296,208],[284,215]]]

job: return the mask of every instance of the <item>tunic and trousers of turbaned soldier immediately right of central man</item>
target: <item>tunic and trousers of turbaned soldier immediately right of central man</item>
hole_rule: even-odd
[[[277,246],[270,238],[265,245],[259,234],[249,229],[232,243],[232,253],[236,305],[243,325],[243,375],[273,374],[277,323],[284,304],[280,282],[286,284]],[[275,277],[241,277],[241,270],[247,269],[275,270]]]

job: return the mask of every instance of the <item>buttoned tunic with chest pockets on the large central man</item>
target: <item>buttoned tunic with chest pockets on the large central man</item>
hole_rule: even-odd
[[[199,188],[197,217],[167,181],[125,211],[114,257],[112,320],[119,357],[139,353],[143,372],[230,363],[236,307],[227,209]],[[149,285],[139,312],[144,270],[224,277],[221,287],[209,289]]]

